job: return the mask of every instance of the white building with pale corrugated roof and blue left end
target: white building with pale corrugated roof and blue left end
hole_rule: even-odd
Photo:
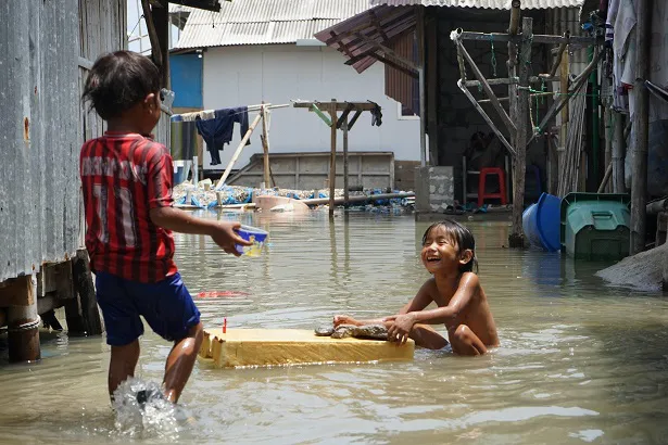
[[[368,0],[235,0],[222,2],[218,13],[173,9],[172,23],[185,22],[171,55],[175,113],[252,105],[263,101],[272,104],[291,104],[292,100],[329,101],[332,98],[373,101],[382,109],[382,125],[371,126],[371,116],[365,113],[350,131],[350,152],[352,155],[363,153],[360,163],[367,169],[362,175],[363,183],[358,185],[385,183],[386,187],[411,190],[413,169],[419,162],[419,119],[386,96],[381,65],[357,75],[343,64],[345,59],[339,52],[313,37],[318,30],[367,8]],[[327,169],[328,158],[322,154],[330,150],[329,128],[315,113],[288,106],[272,112],[269,135],[270,154],[276,161],[276,165],[272,161],[272,168],[277,183],[314,187],[314,182],[306,179],[314,169]],[[339,138],[341,150],[341,136]],[[240,139],[235,130],[231,143],[220,153],[222,163],[215,166],[211,164],[210,153],[203,151],[203,168],[207,176],[220,176]],[[254,134],[235,168],[248,165],[251,156],[259,153],[262,153],[262,144]],[[298,157],[303,161],[302,175],[295,180],[292,169]],[[288,167],[288,164],[292,166]],[[307,164],[312,166],[311,171],[305,170]],[[392,171],[387,174],[386,182],[370,179],[370,170],[387,173],[389,169]],[[394,180],[388,182],[392,177]],[[228,182],[259,185],[255,180],[244,183],[231,179]],[[357,176],[351,179],[351,185],[357,179]],[[315,186],[323,187],[322,180],[318,181]]]

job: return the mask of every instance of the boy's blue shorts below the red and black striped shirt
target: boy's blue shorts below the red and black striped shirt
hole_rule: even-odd
[[[188,330],[200,322],[200,312],[178,272],[156,283],[98,272],[96,288],[106,343],[112,346],[124,346],[143,334],[139,316],[168,341],[184,339]]]

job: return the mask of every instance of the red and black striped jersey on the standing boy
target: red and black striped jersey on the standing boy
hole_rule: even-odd
[[[81,147],[80,174],[91,269],[139,282],[176,274],[172,232],[149,215],[174,202],[169,151],[137,134],[108,131]]]

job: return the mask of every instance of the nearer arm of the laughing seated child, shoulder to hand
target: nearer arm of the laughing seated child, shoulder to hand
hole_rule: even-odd
[[[402,343],[408,339],[408,333],[416,323],[427,325],[449,325],[454,321],[462,310],[474,298],[480,281],[476,274],[465,274],[459,282],[459,288],[450,300],[448,306],[438,307],[430,310],[408,312],[406,314],[400,314],[392,317],[388,317],[388,321],[394,321],[392,327],[388,329],[388,335],[390,339],[398,339]]]

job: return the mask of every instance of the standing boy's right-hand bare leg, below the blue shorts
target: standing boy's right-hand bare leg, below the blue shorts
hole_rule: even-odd
[[[177,403],[180,397],[188,378],[192,372],[194,360],[200,352],[202,340],[204,339],[204,330],[202,323],[199,322],[188,330],[188,335],[184,339],[174,342],[174,347],[167,356],[165,365],[165,396],[172,403]]]

